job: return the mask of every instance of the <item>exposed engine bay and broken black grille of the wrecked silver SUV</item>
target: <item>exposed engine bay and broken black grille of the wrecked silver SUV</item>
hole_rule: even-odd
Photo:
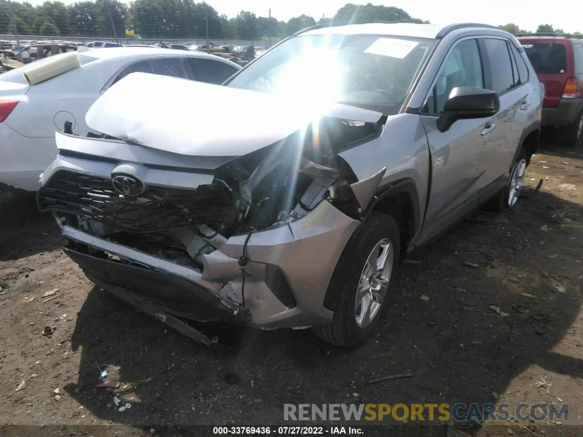
[[[359,198],[351,187],[359,181],[338,152],[380,135],[385,120],[322,117],[230,160],[213,172],[211,184],[192,189],[147,185],[122,173],[103,178],[59,170],[40,189],[38,206],[78,230],[202,270],[202,255],[231,236],[289,226],[324,201],[362,218],[376,185]]]

